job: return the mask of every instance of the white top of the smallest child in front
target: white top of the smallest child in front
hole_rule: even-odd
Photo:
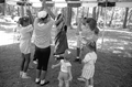
[[[68,73],[69,66],[72,66],[69,62],[65,62],[64,59],[61,59],[61,72]]]

